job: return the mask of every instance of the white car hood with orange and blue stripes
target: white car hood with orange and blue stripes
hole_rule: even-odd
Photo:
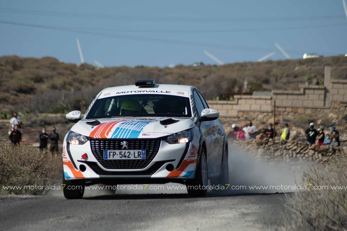
[[[166,121],[161,122],[163,120]],[[178,122],[176,122],[176,120]],[[193,117],[125,117],[98,119],[96,123],[93,121],[95,120],[83,119],[76,123],[71,128],[71,131],[92,138],[158,138],[193,128],[195,126]]]

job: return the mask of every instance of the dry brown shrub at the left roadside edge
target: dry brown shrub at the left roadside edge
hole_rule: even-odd
[[[46,150],[30,146],[13,146],[7,142],[1,143],[0,152],[0,195],[29,194],[40,195],[48,190],[25,189],[24,186],[48,186],[56,179],[56,167]],[[22,186],[22,188],[7,188],[7,186]]]

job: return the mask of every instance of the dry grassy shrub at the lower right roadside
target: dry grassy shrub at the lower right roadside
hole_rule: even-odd
[[[292,211],[286,215],[286,230],[347,230],[346,189],[347,159],[339,156],[324,169],[312,167],[303,175],[307,184],[328,186],[327,189],[306,189],[288,197]],[[308,187],[308,186],[307,186]]]

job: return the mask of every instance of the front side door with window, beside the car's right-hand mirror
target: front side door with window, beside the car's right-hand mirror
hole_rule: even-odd
[[[193,97],[197,115],[201,117],[201,111],[208,108],[208,105],[197,90],[193,92]],[[209,175],[220,171],[221,151],[219,149],[222,145],[220,145],[219,125],[216,121],[202,121],[199,125],[201,134],[205,136]]]

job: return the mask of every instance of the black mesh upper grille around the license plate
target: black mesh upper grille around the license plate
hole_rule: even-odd
[[[90,147],[96,160],[106,169],[144,169],[158,153],[161,139],[93,139]],[[129,150],[146,150],[145,160],[104,160],[104,150],[121,150],[122,141],[128,142]]]

